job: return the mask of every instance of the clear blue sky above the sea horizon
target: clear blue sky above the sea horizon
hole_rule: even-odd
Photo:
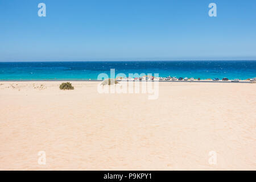
[[[0,61],[256,60],[255,20],[255,0],[0,0]]]

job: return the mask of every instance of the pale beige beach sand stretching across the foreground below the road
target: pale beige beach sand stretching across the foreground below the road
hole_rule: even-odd
[[[0,82],[1,170],[256,170],[256,84],[160,82],[148,100],[60,83]]]

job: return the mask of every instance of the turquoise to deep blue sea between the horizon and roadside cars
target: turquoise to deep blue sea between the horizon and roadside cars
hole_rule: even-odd
[[[160,77],[256,77],[256,61],[0,62],[0,80],[97,79],[100,73],[159,73]]]

